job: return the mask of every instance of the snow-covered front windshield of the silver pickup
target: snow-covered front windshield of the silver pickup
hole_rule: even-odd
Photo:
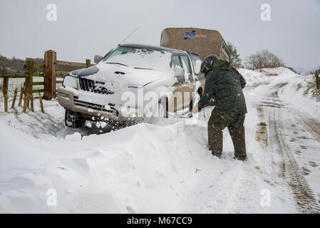
[[[104,63],[120,64],[133,68],[170,69],[171,53],[149,48],[118,47],[103,58]]]

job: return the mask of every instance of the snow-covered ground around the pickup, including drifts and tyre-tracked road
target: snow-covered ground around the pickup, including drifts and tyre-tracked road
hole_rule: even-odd
[[[227,130],[222,159],[207,150],[212,106],[195,125],[168,118],[117,130],[87,121],[73,130],[56,100],[43,100],[46,114],[38,100],[26,114],[4,113],[1,103],[0,212],[320,212],[320,104],[298,86],[310,76],[239,72],[245,162],[234,160]]]

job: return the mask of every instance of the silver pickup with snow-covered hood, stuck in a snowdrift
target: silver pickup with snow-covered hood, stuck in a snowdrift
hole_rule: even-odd
[[[183,115],[205,88],[196,53],[123,44],[104,57],[95,56],[95,62],[68,73],[58,88],[68,127],[79,128],[86,120],[115,125]]]

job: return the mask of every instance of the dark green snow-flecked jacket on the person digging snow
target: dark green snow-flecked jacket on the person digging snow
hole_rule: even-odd
[[[216,61],[205,78],[205,92],[199,101],[199,110],[214,98],[214,110],[217,112],[247,113],[246,101],[242,93],[246,81],[227,61],[221,59]]]

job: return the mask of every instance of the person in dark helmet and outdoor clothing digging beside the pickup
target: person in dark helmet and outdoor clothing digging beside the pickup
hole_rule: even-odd
[[[242,88],[246,81],[227,61],[215,55],[202,61],[201,72],[205,73],[205,92],[199,101],[201,110],[213,98],[215,108],[208,121],[208,144],[212,155],[222,156],[222,130],[228,128],[237,160],[247,158],[244,139],[244,117],[247,113]]]

